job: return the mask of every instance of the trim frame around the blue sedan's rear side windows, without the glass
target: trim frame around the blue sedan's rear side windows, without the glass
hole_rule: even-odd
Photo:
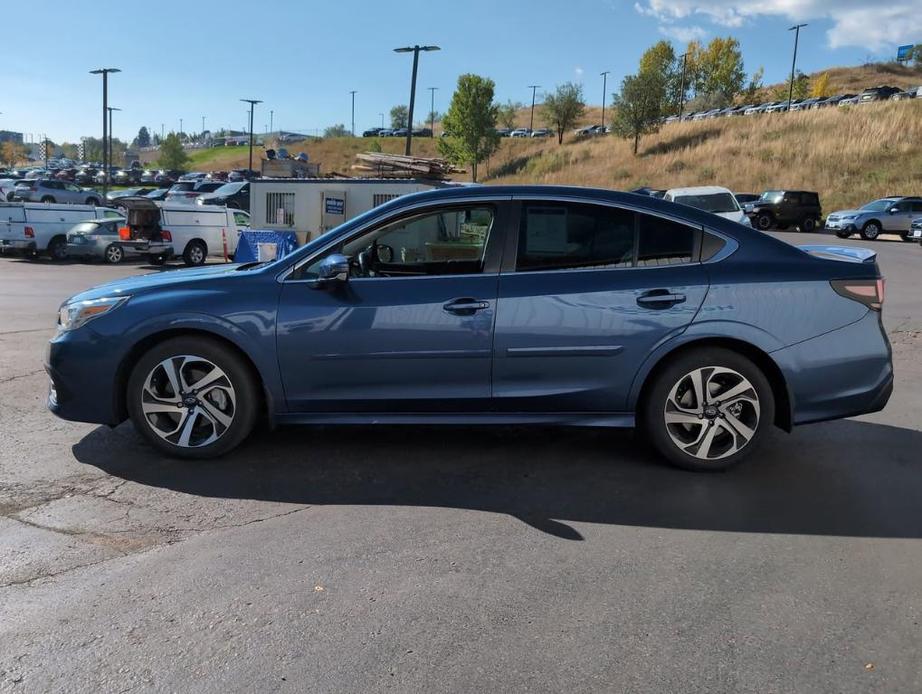
[[[519,247],[519,235],[522,232],[522,205],[532,202],[539,203],[557,203],[557,204],[584,204],[584,205],[595,205],[598,207],[611,207],[617,210],[628,210],[634,213],[634,260],[632,267],[584,267],[584,268],[554,268],[549,270],[516,270],[515,264],[518,259],[518,247]],[[585,198],[581,196],[541,196],[541,195],[514,195],[513,204],[510,206],[512,210],[512,221],[507,234],[505,253],[503,254],[503,264],[500,274],[528,274],[528,275],[537,275],[541,273],[560,273],[560,272],[630,272],[631,270],[667,270],[669,268],[675,267],[689,267],[691,265],[705,265],[715,262],[720,262],[724,258],[728,257],[739,248],[739,243],[725,234],[722,234],[718,231],[714,231],[710,227],[705,228],[703,225],[699,226],[697,224],[689,223],[688,220],[682,219],[675,215],[665,214],[659,210],[651,210],[639,205],[630,205],[615,203],[608,200],[597,200],[592,198]],[[638,215],[645,214],[651,217],[658,217],[660,219],[665,219],[666,221],[673,222],[674,224],[681,224],[682,226],[688,227],[694,233],[694,245],[692,246],[692,260],[687,263],[672,263],[670,265],[637,265],[637,253],[639,251],[639,234],[640,234],[640,217]],[[702,261],[701,260],[701,247],[702,247],[702,234],[712,234],[724,242],[724,247],[715,253],[711,258]]]

